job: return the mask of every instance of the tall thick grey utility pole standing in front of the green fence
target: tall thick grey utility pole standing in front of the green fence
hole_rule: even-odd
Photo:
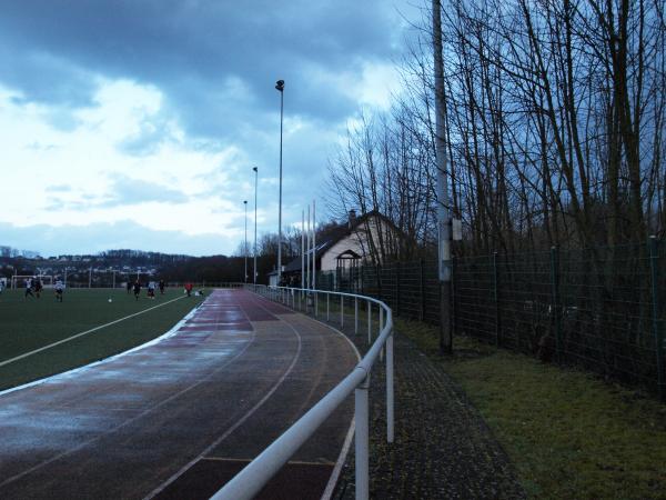
[[[433,52],[435,76],[435,154],[437,160],[437,262],[440,278],[440,352],[451,353],[451,206],[446,164],[446,122],[444,101],[444,57],[442,6],[433,0]]]

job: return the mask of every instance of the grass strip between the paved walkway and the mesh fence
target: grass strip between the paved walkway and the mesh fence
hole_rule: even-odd
[[[589,373],[397,321],[465,390],[531,498],[666,499],[666,406]]]

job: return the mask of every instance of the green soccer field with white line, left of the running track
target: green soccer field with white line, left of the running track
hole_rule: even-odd
[[[180,288],[167,289],[163,296],[158,292],[154,300],[149,300],[142,290],[139,301],[121,289],[68,289],[62,303],[56,301],[52,290],[44,290],[40,299],[23,298],[23,290],[6,290],[0,294],[0,390],[81,367],[154,339],[202,300],[184,297]],[[140,314],[123,319],[137,313]],[[117,320],[121,321],[30,353]],[[14,360],[23,354],[29,356]]]

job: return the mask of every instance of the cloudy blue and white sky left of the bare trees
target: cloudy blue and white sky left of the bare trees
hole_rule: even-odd
[[[231,254],[317,200],[361,112],[387,109],[411,0],[3,0],[0,246]]]

